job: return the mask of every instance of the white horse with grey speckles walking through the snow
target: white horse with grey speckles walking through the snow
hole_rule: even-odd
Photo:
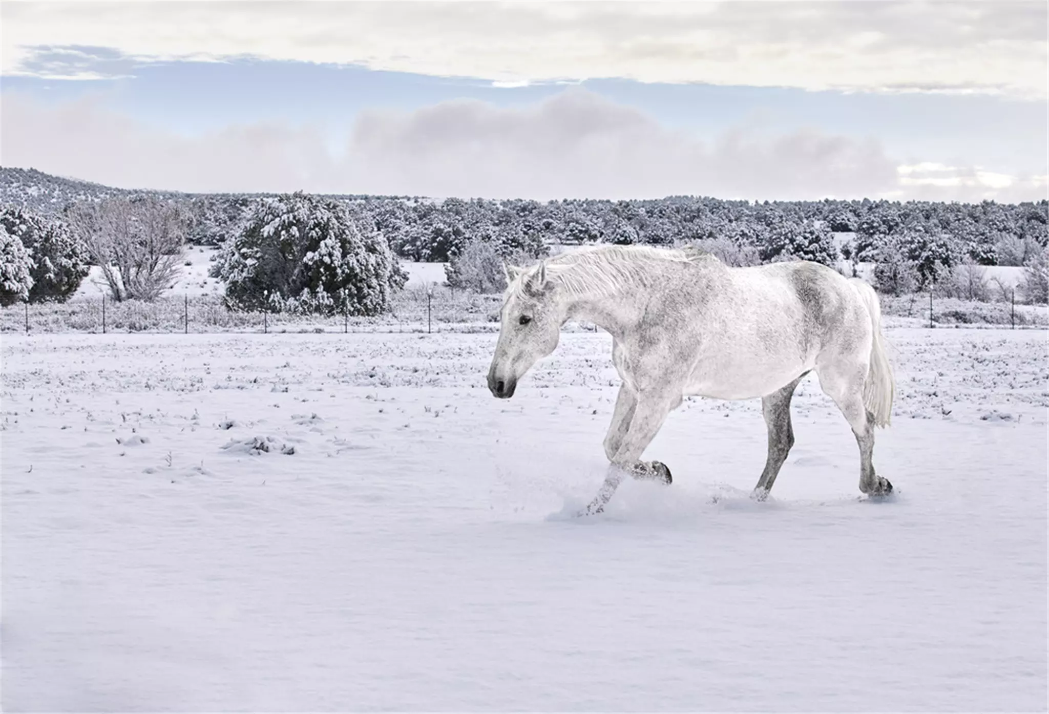
[[[791,446],[790,401],[815,370],[859,443],[859,489],[885,496],[874,472],[874,427],[890,423],[895,391],[870,285],[806,261],[728,267],[705,253],[602,246],[507,266],[499,340],[488,372],[506,399],[557,348],[561,326],[585,320],[612,334],[622,378],[604,439],[611,462],[586,514],[600,513],[624,476],[670,483],[642,452],[685,395],[762,397],[769,452],[754,497],[764,500]]]

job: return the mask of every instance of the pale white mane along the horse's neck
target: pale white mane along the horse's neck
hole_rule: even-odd
[[[707,260],[718,261],[718,258],[691,246],[682,250],[648,245],[585,247],[548,258],[542,263],[524,268],[507,286],[506,297],[526,297],[529,281],[535,277],[541,264],[545,264],[547,278],[557,281],[569,295],[601,297],[617,291],[625,284],[647,285],[651,274],[645,268],[654,264]]]

